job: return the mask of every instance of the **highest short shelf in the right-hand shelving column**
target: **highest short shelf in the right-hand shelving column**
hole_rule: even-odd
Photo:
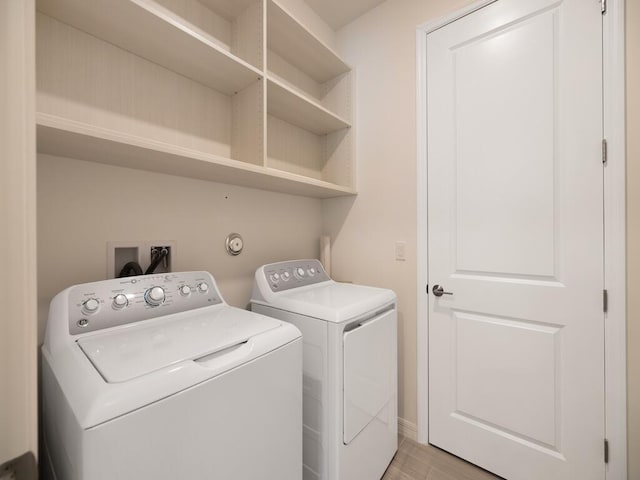
[[[273,0],[267,0],[267,46],[318,83],[350,70],[329,46]]]

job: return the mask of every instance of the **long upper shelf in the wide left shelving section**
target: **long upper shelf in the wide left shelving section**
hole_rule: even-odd
[[[227,95],[262,77],[152,0],[38,0],[38,10]]]

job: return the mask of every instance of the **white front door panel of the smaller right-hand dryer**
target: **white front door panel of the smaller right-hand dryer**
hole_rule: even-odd
[[[395,308],[344,333],[343,442],[349,444],[396,396],[397,313]],[[390,425],[390,428],[393,428]]]

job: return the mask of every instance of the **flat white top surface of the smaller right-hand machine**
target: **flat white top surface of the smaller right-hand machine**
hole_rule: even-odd
[[[268,303],[289,312],[341,323],[394,302],[395,293],[384,288],[328,281],[278,292]]]

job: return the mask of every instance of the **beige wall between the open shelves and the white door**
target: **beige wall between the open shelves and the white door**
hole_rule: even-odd
[[[325,200],[332,273],[393,289],[399,308],[399,415],[415,433],[416,26],[469,0],[388,0],[338,31],[356,72],[358,197]],[[395,259],[396,241],[406,259]]]

